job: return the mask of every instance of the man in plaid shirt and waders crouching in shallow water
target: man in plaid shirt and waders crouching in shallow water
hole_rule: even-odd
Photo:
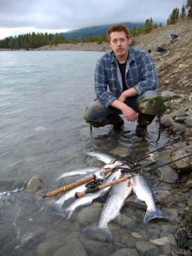
[[[86,109],[84,119],[93,127],[112,124],[113,129],[118,131],[124,126],[124,120],[120,117],[123,114],[128,121],[138,120],[136,133],[138,136],[145,136],[147,125],[152,122],[156,113],[145,111],[145,108],[141,111],[143,108],[140,108],[140,102],[152,98],[154,102],[159,97],[159,93],[155,91],[158,80],[154,63],[147,51],[129,46],[129,30],[124,25],[109,28],[108,39],[113,51],[97,61],[97,99]]]

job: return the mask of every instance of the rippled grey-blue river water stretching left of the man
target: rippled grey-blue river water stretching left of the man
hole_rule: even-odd
[[[47,190],[84,177],[75,175],[58,179],[63,173],[103,165],[99,160],[88,157],[88,152],[118,156],[128,153],[130,156],[131,153],[134,159],[168,141],[166,133],[162,132],[161,140],[158,144],[155,142],[157,122],[148,129],[151,140],[140,140],[134,136],[134,122],[125,122],[124,130],[119,133],[110,132],[110,126],[93,128],[90,136],[83,113],[95,99],[93,74],[96,61],[103,54],[80,51],[0,52],[0,255],[48,255],[45,253],[47,247],[51,252],[49,255],[54,255],[67,244],[69,238],[66,237],[76,232],[76,239],[79,239],[81,228],[77,214],[83,207],[76,210],[71,220],[65,220],[54,207],[50,207],[54,198],[43,200],[42,195]],[[26,182],[35,175],[46,184],[43,191],[24,189]],[[137,211],[142,218],[136,222],[135,230],[141,228],[142,233],[146,229],[143,226],[144,212]],[[156,233],[157,227],[152,228]],[[46,241],[49,242],[47,245]],[[81,243],[85,244],[82,240]],[[114,242],[111,246],[113,250],[110,247],[110,253],[124,246],[127,248]],[[88,246],[84,250],[87,255],[97,255],[90,253]]]

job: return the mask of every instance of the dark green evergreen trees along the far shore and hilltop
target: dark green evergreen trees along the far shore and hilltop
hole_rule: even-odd
[[[187,14],[188,11],[188,14]],[[187,0],[186,4],[183,4],[181,10],[179,8],[174,8],[172,13],[167,19],[166,24],[175,24],[179,19],[184,19],[186,16],[192,17],[192,0]],[[152,29],[161,27],[154,23],[152,18],[145,21],[145,26],[141,28],[140,26],[133,26],[131,31],[131,36],[136,36],[140,33],[148,33]],[[77,44],[86,42],[97,42],[101,44],[102,42],[108,42],[108,37],[106,35],[102,36],[88,36],[85,38],[66,38],[63,34],[52,34],[52,33],[27,33],[19,36],[6,37],[0,40],[0,48],[6,49],[36,49],[43,45],[57,45],[57,44]]]

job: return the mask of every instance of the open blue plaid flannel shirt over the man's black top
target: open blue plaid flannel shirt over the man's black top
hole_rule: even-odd
[[[127,89],[134,87],[138,95],[156,90],[158,79],[154,62],[147,51],[129,46],[125,70]],[[95,94],[108,108],[123,92],[122,77],[113,51],[104,54],[95,68]]]

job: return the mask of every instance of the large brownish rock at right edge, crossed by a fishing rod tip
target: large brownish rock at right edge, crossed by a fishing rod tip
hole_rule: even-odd
[[[192,145],[181,148],[179,150],[175,150],[172,152],[171,157],[172,160],[179,159],[182,156],[188,156],[188,154],[192,153]],[[179,161],[172,163],[173,168],[179,170],[192,170],[192,156],[186,157]]]

